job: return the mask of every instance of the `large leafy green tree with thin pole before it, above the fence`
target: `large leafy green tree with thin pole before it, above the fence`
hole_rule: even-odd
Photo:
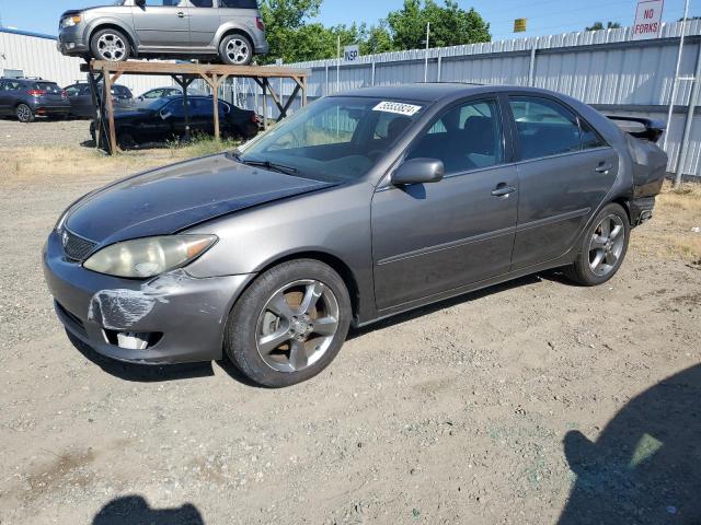
[[[394,49],[416,49],[425,45],[430,23],[432,47],[490,42],[490,24],[474,10],[461,9],[455,0],[438,5],[434,0],[404,0],[404,5],[387,16]]]

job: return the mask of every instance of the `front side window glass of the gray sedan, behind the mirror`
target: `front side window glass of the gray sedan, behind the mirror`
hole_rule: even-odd
[[[446,175],[504,162],[502,121],[495,101],[450,109],[414,145],[407,159],[439,159]]]

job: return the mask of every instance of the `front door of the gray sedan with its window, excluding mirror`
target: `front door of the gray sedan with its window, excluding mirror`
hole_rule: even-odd
[[[378,310],[410,305],[506,273],[518,202],[516,167],[494,100],[448,109],[406,159],[439,159],[438,183],[380,188],[372,199]]]

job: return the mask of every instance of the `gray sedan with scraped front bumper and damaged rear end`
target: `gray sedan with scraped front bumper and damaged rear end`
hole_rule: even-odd
[[[528,273],[595,285],[652,217],[659,127],[555,93],[417,84],[322,98],[239,151],[116,182],[44,249],[56,312],[137,363],[321,372],[358,327]]]

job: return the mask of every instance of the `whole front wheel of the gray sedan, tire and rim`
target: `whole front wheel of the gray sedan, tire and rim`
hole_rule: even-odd
[[[330,266],[313,259],[283,262],[256,278],[237,302],[225,350],[256,384],[294,385],[333,361],[352,315],[345,283]]]

